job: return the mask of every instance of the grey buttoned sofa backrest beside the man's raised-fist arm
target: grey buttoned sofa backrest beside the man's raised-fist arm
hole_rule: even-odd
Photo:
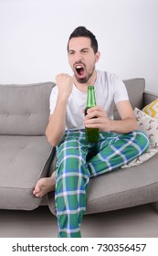
[[[0,134],[44,135],[55,84],[0,85]]]

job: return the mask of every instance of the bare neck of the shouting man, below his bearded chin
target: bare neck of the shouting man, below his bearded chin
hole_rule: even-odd
[[[90,80],[88,80],[86,83],[80,83],[78,80],[76,80],[75,76],[73,77],[73,82],[75,86],[79,89],[79,91],[86,92],[88,91],[88,86],[95,84],[96,79],[97,70],[94,70],[92,76],[90,77]]]

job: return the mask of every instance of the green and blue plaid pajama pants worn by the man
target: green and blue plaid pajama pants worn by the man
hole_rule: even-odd
[[[97,144],[88,144],[85,131],[66,131],[57,147],[56,208],[58,237],[79,238],[86,210],[90,177],[121,167],[142,155],[149,141],[145,133],[100,133]]]

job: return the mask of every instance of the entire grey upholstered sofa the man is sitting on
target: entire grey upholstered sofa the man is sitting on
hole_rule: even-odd
[[[125,80],[132,107],[142,109],[158,98],[145,91],[145,80]],[[0,208],[31,210],[48,204],[56,214],[54,192],[34,197],[42,176],[55,168],[55,148],[47,143],[49,94],[53,82],[0,85]],[[115,109],[115,118],[118,113]],[[153,203],[158,207],[158,155],[142,165],[90,179],[86,214]],[[47,200],[46,200],[47,199]]]

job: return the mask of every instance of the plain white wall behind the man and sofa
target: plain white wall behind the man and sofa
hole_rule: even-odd
[[[98,38],[98,69],[144,77],[157,89],[157,0],[0,0],[0,83],[55,80],[68,72],[67,41],[85,26]]]

